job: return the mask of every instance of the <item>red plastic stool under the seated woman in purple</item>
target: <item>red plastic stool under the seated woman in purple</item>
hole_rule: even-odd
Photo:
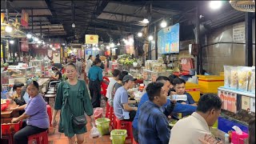
[[[48,144],[47,131],[44,131],[39,134],[30,135],[28,144],[32,144],[34,142],[34,140],[36,140],[38,144]]]

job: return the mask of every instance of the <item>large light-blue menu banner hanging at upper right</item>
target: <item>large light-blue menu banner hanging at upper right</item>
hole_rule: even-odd
[[[179,53],[179,23],[158,31],[158,53]]]

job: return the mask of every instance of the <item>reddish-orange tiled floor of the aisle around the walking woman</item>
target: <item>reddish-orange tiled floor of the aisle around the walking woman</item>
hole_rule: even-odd
[[[82,78],[83,79],[83,74],[82,74]],[[52,107],[53,110],[53,106],[54,106],[54,102],[53,99],[50,99],[50,106]],[[103,116],[105,116],[105,106],[106,106],[106,101],[102,98],[102,103],[101,106],[103,107],[104,110],[104,114]],[[59,120],[59,112],[56,116],[57,121]],[[87,118],[87,125],[86,128],[88,130],[88,132],[85,134],[85,139],[84,139],[84,143],[86,144],[111,144],[111,140],[110,140],[110,134],[109,135],[104,135],[100,138],[89,138],[89,134],[90,134],[90,130],[92,128],[92,126],[90,126],[90,118]],[[56,127],[50,127],[49,129],[49,134],[48,134],[48,142],[49,144],[68,144],[68,139],[65,137],[65,135],[63,133],[59,133],[58,132],[58,126]],[[126,144],[130,144],[131,141],[130,139],[126,140]]]

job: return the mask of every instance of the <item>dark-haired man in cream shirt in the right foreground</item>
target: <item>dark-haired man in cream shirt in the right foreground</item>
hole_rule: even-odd
[[[171,129],[169,144],[200,144],[202,142],[199,138],[203,140],[209,138],[209,135],[213,137],[209,126],[214,126],[221,107],[222,100],[216,94],[202,95],[196,112],[179,120]]]

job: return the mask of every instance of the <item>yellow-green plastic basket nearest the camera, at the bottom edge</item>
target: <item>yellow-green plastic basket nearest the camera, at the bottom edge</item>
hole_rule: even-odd
[[[126,142],[127,130],[112,130],[110,139],[112,144],[124,144]]]

